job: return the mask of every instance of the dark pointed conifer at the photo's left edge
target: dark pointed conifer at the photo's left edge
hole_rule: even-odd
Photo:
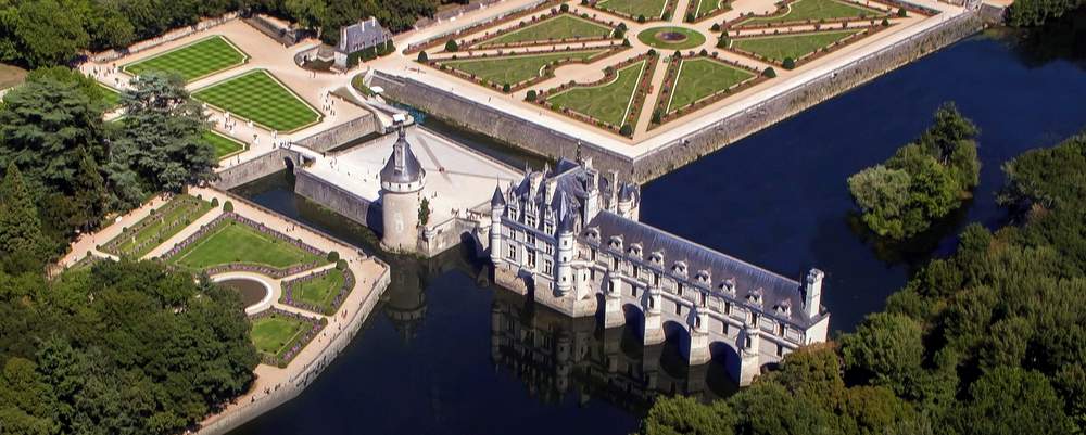
[[[47,259],[49,246],[34,204],[18,167],[8,164],[0,183],[0,254],[8,270],[33,270]]]

